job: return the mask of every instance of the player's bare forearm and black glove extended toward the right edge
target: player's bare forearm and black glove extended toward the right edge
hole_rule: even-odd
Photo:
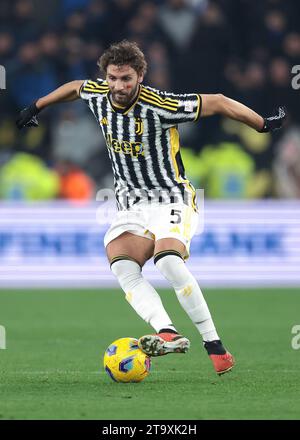
[[[202,116],[221,114],[236,121],[243,122],[254,128],[260,133],[266,133],[281,128],[286,111],[284,107],[279,107],[277,113],[263,118],[246,105],[227,98],[224,95],[201,95],[202,97]]]

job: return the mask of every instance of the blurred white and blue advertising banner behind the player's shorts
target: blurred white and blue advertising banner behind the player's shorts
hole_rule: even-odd
[[[116,285],[103,237],[114,205],[0,204],[0,288]],[[300,202],[205,202],[187,261],[201,286],[300,286]],[[145,276],[166,282],[152,261]]]

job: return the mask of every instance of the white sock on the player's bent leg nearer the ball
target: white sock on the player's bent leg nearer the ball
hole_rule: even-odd
[[[118,260],[111,265],[112,273],[126,294],[126,300],[137,314],[156,332],[161,329],[175,330],[164,309],[159,294],[142,276],[138,263],[132,260]]]

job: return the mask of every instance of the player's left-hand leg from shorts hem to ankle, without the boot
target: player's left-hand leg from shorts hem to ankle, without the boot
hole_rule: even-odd
[[[108,239],[106,246],[111,270],[137,314],[157,332],[162,328],[176,332],[160,296],[142,276],[142,267],[153,256],[153,249],[153,240],[130,232]]]

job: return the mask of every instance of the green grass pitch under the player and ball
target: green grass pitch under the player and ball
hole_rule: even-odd
[[[153,358],[138,384],[114,383],[103,353],[150,328],[120,290],[0,291],[1,419],[299,419],[300,289],[205,290],[236,368],[218,377],[175,294],[161,290],[187,354]]]

